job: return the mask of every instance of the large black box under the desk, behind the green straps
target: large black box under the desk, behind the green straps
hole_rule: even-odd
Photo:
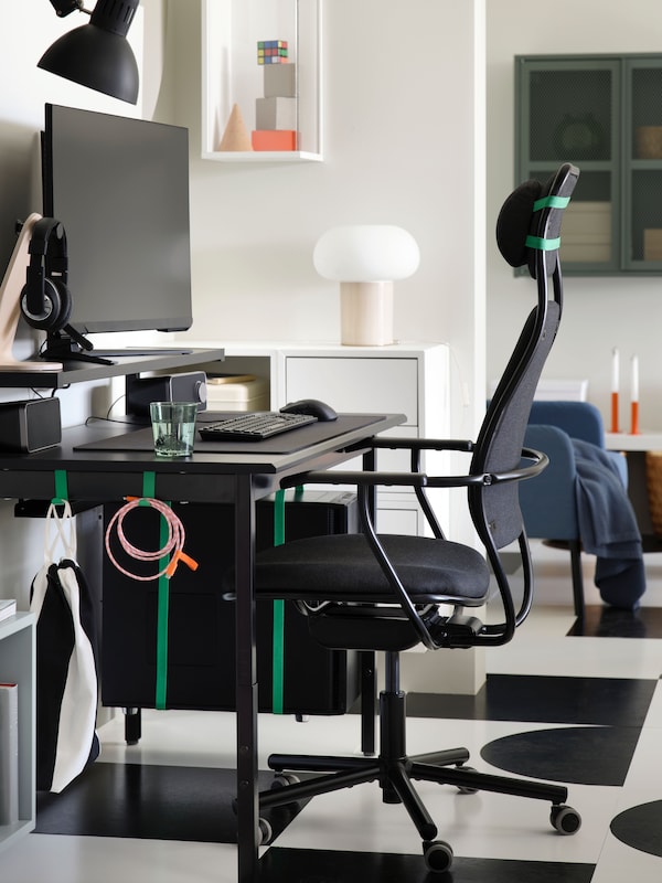
[[[119,506],[104,506],[104,534]],[[223,597],[221,575],[234,556],[234,510],[229,504],[174,503],[186,532],[184,551],[199,563],[195,572],[180,564],[170,581],[168,690],[166,708],[235,708],[235,604]],[[274,502],[257,506],[257,549],[274,542]],[[158,550],[160,515],[153,509],[129,512],[129,542]],[[286,497],[286,539],[357,530],[355,494],[305,491]],[[114,532],[114,554],[118,550]],[[126,565],[125,565],[126,566]],[[130,562],[127,568],[154,573],[154,564]],[[120,573],[104,555],[102,700],[104,705],[154,708],[158,581],[139,582]],[[257,605],[257,670],[260,711],[270,711],[273,678],[273,604]],[[360,693],[359,655],[327,650],[308,632],[306,617],[285,608],[282,712],[343,714]]]

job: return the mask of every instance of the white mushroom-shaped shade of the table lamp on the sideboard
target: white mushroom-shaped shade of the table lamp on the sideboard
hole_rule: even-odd
[[[354,224],[328,230],[318,240],[312,260],[325,279],[395,281],[416,273],[420,253],[414,236],[402,227]]]

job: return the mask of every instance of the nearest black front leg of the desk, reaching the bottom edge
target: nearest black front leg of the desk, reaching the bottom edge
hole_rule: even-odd
[[[255,616],[255,493],[250,476],[237,476],[236,563],[236,726],[237,862],[239,883],[258,876],[257,673]]]

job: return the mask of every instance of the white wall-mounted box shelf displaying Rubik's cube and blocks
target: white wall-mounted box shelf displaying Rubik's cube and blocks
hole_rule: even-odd
[[[322,160],[322,0],[203,0],[202,158],[216,162]],[[296,65],[296,150],[220,150],[237,105],[250,134],[256,100],[264,97],[259,40],[287,40]]]

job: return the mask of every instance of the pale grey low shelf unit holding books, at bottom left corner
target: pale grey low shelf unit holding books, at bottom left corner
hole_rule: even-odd
[[[0,681],[19,685],[19,821],[0,825],[0,852],[35,826],[35,623],[25,613],[0,623]]]

